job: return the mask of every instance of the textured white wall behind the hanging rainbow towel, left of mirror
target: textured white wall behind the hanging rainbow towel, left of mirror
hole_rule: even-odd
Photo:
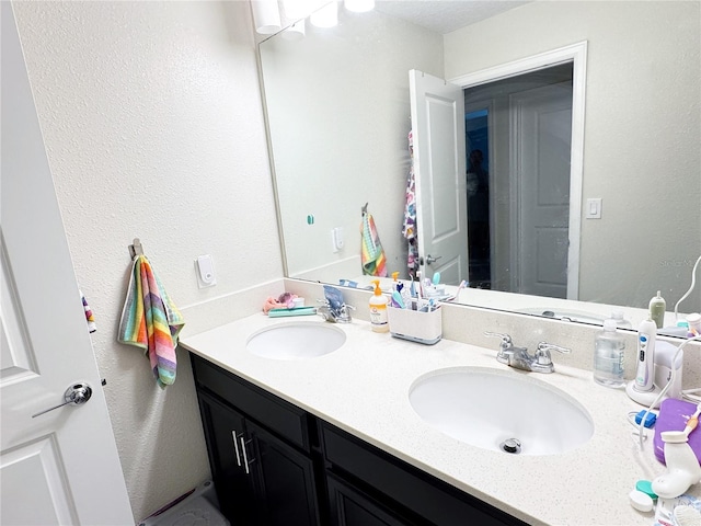
[[[250,289],[281,286],[250,8],[33,1],[14,10],[139,519],[209,467],[187,354],[179,352],[179,378],[161,391],[147,358],[116,343],[127,245],[143,242],[195,320],[185,333],[226,317],[221,305],[260,310],[262,294]],[[214,288],[196,284],[193,261],[204,253],[215,259]]]

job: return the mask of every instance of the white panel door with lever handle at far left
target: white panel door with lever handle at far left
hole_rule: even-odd
[[[0,4],[0,524],[134,524],[12,7]],[[90,400],[33,418],[78,384]]]

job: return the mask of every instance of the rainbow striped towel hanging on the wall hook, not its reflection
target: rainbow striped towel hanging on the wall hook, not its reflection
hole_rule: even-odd
[[[149,260],[134,258],[117,341],[145,350],[161,388],[175,381],[175,346],[184,324]]]

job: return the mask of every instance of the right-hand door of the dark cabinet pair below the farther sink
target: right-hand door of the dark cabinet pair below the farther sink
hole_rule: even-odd
[[[317,483],[311,458],[251,421],[246,422],[246,432],[251,439],[246,456],[255,479],[260,524],[317,526]]]

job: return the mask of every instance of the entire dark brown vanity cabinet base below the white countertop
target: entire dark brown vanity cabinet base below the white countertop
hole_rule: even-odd
[[[526,524],[204,358],[192,362],[232,526]]]

